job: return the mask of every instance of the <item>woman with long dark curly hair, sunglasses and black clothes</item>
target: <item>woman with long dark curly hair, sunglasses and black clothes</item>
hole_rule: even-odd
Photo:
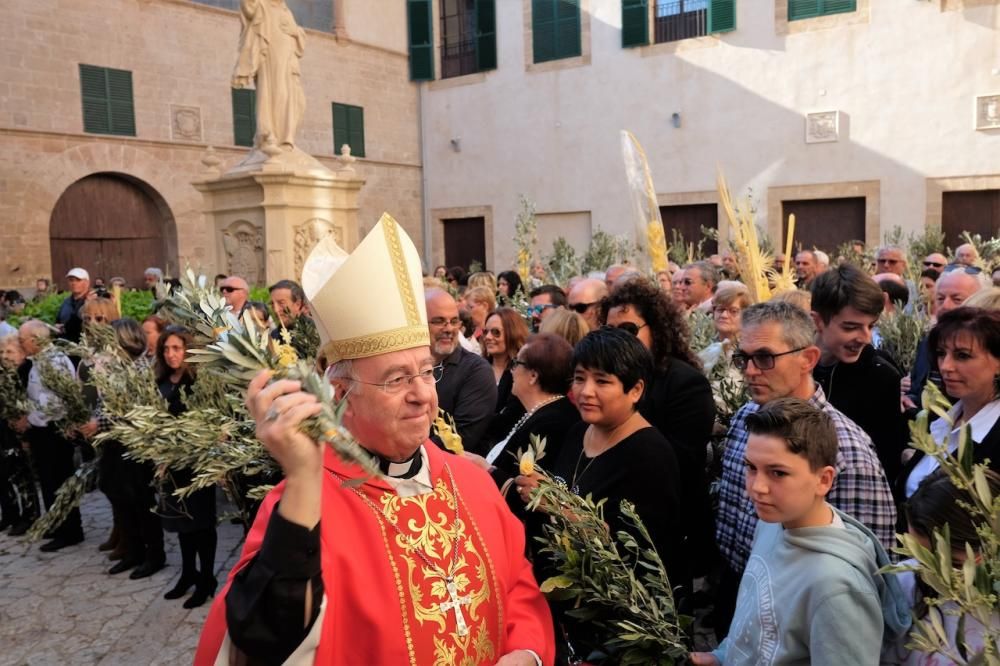
[[[652,353],[651,386],[640,413],[671,443],[685,500],[682,530],[691,574],[708,572],[715,553],[715,528],[705,464],[715,401],[701,362],[688,344],[684,315],[657,285],[632,279],[619,285],[601,304],[601,319],[628,331]],[[676,581],[689,585],[688,581]],[[685,589],[690,589],[686,587]]]

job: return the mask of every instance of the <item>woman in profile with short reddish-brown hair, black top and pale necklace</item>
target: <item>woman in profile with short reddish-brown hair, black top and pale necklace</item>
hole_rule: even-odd
[[[477,460],[485,462],[483,467],[498,486],[517,476],[515,454],[527,450],[532,435],[545,439],[543,465],[558,458],[566,432],[580,421],[576,407],[566,399],[572,372],[573,348],[557,335],[536,333],[521,347],[513,360],[512,394],[523,405],[523,414],[486,458]],[[515,495],[508,496],[508,503],[515,514],[524,513],[524,504]]]

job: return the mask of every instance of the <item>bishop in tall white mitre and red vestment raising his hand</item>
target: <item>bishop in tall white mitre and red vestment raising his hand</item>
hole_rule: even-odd
[[[302,433],[320,405],[298,382],[251,382],[257,436],[285,481],[261,506],[195,663],[551,663],[523,527],[485,472],[427,440],[438,371],[412,241],[388,215],[350,255],[328,237],[302,286],[343,425],[382,474],[365,478]]]

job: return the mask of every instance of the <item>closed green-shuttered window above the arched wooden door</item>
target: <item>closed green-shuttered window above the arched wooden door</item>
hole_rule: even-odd
[[[132,72],[80,65],[83,131],[135,136]]]

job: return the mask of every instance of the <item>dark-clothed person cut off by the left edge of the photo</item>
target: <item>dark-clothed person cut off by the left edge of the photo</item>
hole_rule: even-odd
[[[22,387],[28,385],[31,362],[27,360],[17,334],[0,338],[0,363],[4,372],[15,374]],[[6,421],[0,421],[0,532],[10,528],[11,536],[28,531],[38,518],[38,491],[21,437]]]

